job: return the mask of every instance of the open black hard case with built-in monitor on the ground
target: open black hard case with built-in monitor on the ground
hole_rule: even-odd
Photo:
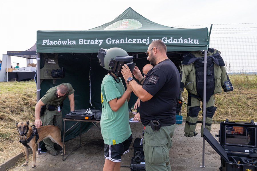
[[[235,141],[238,145],[227,145],[225,144],[225,136],[239,136],[235,134],[235,131],[226,130],[226,128],[233,127],[247,127],[255,129],[255,145],[252,146],[242,146]],[[248,164],[244,160],[251,159],[257,161],[257,140],[256,140],[256,129],[257,125],[252,123],[234,123],[234,122],[221,122],[219,131],[219,142],[211,135],[211,133],[204,129],[203,137],[204,139],[214,148],[214,150],[220,155],[221,160],[221,171],[257,171],[257,163],[255,165]],[[233,130],[233,129],[232,129]],[[217,136],[217,135],[216,135]],[[244,135],[242,135],[244,136]]]

